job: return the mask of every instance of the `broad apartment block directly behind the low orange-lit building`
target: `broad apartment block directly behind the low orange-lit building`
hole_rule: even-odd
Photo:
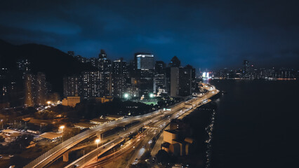
[[[63,97],[80,95],[80,81],[79,76],[67,76],[63,78]]]

